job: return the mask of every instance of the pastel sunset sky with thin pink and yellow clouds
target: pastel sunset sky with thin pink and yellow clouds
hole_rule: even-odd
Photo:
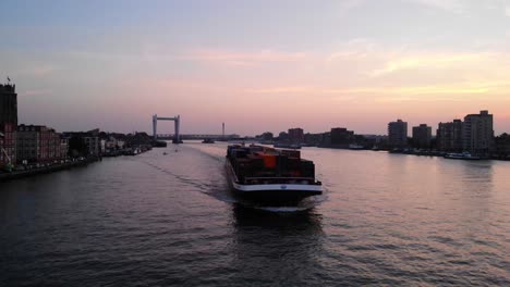
[[[0,2],[20,123],[386,134],[489,110],[510,132],[510,1]],[[173,133],[161,123],[161,133]]]

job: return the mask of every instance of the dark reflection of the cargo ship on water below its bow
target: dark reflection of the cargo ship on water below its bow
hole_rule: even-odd
[[[320,215],[274,212],[234,204],[232,265],[235,282],[296,286],[309,282],[323,252]]]

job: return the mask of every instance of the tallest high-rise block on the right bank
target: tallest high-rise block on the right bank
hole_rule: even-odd
[[[471,154],[487,157],[494,151],[493,115],[488,111],[464,117],[462,142]]]

